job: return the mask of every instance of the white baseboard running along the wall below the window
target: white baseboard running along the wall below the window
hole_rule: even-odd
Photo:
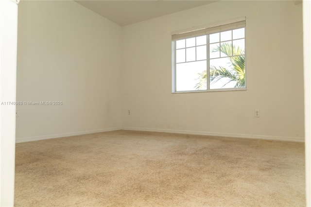
[[[244,134],[230,134],[230,133],[217,133],[217,132],[200,132],[200,131],[171,130],[171,129],[149,129],[149,128],[132,128],[132,127],[122,127],[121,129],[122,130],[132,130],[132,131],[166,132],[166,133],[176,133],[176,134],[204,135],[204,136],[230,137],[230,138],[252,138],[252,139],[294,141],[294,142],[304,142],[305,141],[305,139],[303,137],[244,135]]]

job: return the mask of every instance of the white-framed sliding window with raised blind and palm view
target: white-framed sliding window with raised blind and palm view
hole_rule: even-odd
[[[173,92],[245,89],[245,20],[172,35]]]

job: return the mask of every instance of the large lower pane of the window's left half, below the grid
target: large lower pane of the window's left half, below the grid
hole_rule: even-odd
[[[206,90],[206,60],[176,64],[176,91]],[[201,74],[201,75],[200,75]]]

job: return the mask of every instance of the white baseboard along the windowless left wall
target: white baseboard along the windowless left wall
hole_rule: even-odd
[[[116,131],[116,130],[121,130],[121,128],[98,129],[98,130],[88,130],[88,131],[71,132],[71,133],[64,133],[64,134],[16,138],[16,143],[26,142],[26,141],[37,141],[37,140],[50,139],[50,138],[64,138],[64,137],[71,137],[71,136],[77,136],[77,135],[87,135],[87,134],[94,134],[94,133],[100,133],[100,132],[110,132],[110,131]]]

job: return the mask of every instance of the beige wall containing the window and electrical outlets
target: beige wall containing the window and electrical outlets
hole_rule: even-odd
[[[247,90],[172,94],[171,33],[237,17],[246,17]],[[122,35],[123,128],[304,140],[302,4],[219,1]]]

